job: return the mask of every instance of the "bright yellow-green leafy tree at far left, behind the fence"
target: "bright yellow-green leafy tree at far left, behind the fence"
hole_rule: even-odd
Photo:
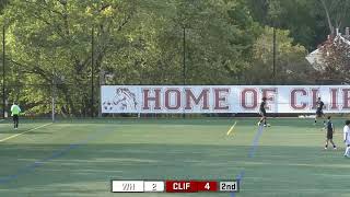
[[[16,99],[15,93],[31,111],[46,113],[51,86],[57,85],[58,111],[86,115],[90,95],[97,93],[85,88],[91,80],[91,34],[95,34],[94,72],[98,73],[109,42],[135,16],[136,4],[132,0],[11,1],[2,21],[9,24],[9,72],[21,73],[21,79],[16,74],[8,79],[20,91],[9,91],[10,100]]]

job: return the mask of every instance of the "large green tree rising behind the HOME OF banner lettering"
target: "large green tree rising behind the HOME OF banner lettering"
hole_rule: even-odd
[[[152,14],[141,22],[147,25],[131,43],[142,40],[142,45],[151,50],[124,48],[129,60],[122,68],[109,67],[114,82],[122,79],[132,84],[183,84],[185,30],[187,83],[235,83],[238,72],[249,60],[258,32],[258,24],[249,16],[245,4],[235,0],[159,2],[152,5]],[[153,33],[148,34],[150,32]],[[117,57],[115,55],[114,59]],[[133,77],[126,79],[129,74],[120,74],[125,72]]]

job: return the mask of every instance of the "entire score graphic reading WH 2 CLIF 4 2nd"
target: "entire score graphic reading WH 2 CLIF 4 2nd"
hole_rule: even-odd
[[[112,179],[112,193],[237,193],[237,181]]]

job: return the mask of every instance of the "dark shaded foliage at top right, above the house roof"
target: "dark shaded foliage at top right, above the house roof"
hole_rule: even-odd
[[[349,0],[325,1],[335,27],[349,24]],[[247,0],[254,20],[262,25],[289,30],[294,43],[313,50],[330,34],[320,0]]]

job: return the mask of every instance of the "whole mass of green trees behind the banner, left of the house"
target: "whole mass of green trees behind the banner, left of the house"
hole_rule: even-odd
[[[275,82],[308,82],[306,50],[328,32],[318,1],[1,1],[5,96],[34,114],[48,114],[55,97],[58,113],[86,116],[97,113],[100,84],[183,84],[184,65],[187,84],[271,83],[271,26]],[[346,9],[329,13],[347,25]]]

